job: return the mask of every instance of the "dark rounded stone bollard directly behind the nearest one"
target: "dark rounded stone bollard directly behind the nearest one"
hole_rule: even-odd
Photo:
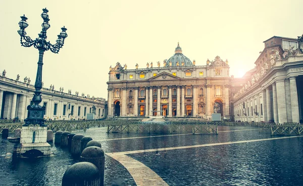
[[[87,147],[83,150],[80,161],[90,162],[94,164],[100,173],[100,185],[104,185],[104,168],[105,168],[105,157],[104,152],[101,148],[96,146]]]

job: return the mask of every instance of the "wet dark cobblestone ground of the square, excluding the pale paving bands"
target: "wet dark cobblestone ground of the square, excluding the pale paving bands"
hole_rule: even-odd
[[[259,133],[259,130],[254,130],[255,127],[219,126],[218,129],[228,132],[218,135],[108,134],[107,128],[101,127],[74,133],[99,140],[105,153],[273,137]],[[125,139],[109,140],[114,138]],[[149,167],[169,185],[300,185],[303,182],[302,144],[303,137],[295,137],[127,156]],[[6,153],[13,151],[13,144],[7,140],[1,141],[0,149],[0,185],[61,185],[65,170],[78,162],[68,149],[53,144],[55,156],[35,160],[6,158]],[[105,185],[135,185],[135,181],[123,165],[106,156]]]

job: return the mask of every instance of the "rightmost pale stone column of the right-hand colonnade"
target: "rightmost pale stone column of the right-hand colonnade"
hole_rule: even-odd
[[[298,104],[298,95],[297,95],[297,88],[296,88],[296,81],[295,77],[290,77],[290,100],[291,100],[291,116],[292,122],[299,123],[299,104]]]

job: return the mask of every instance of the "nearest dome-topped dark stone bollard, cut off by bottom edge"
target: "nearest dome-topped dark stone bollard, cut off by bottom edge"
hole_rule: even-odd
[[[62,186],[99,186],[98,168],[89,162],[79,162],[68,167],[62,178]]]

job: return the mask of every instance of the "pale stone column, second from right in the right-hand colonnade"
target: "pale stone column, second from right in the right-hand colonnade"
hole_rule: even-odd
[[[279,90],[279,91],[277,91]],[[287,122],[284,79],[276,81],[277,108],[279,123]]]

